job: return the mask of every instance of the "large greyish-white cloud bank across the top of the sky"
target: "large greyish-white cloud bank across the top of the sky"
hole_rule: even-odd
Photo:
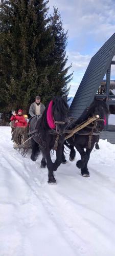
[[[50,0],[61,12],[63,26],[70,38],[89,35],[104,42],[115,32],[115,1],[113,0]]]

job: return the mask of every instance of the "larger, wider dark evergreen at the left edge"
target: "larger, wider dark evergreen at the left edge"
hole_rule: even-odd
[[[42,95],[47,82],[47,59],[52,49],[47,4],[42,0],[2,1],[1,83],[7,91],[8,109],[28,107],[36,95]]]

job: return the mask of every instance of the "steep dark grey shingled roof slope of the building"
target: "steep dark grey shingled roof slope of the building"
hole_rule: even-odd
[[[78,119],[85,108],[93,101],[114,54],[115,33],[91,58],[71,104],[69,116]]]

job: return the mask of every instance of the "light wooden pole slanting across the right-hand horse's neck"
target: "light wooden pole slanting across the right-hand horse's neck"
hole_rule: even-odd
[[[99,119],[99,116],[93,116],[91,117],[90,119],[88,119],[85,123],[79,125],[79,126],[76,126],[72,132],[70,134],[68,134],[66,137],[65,137],[65,140],[67,140],[68,138],[71,138],[75,133],[77,133],[78,131],[82,130],[84,127],[86,127],[89,123],[92,123],[94,122],[95,120]]]

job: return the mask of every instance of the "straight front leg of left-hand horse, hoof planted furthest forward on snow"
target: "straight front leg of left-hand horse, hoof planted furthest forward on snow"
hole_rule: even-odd
[[[51,159],[50,151],[46,152],[45,154],[46,159],[47,159],[47,168],[48,168],[48,183],[53,184],[56,183],[56,179],[54,178],[54,173],[53,173],[53,162]]]

